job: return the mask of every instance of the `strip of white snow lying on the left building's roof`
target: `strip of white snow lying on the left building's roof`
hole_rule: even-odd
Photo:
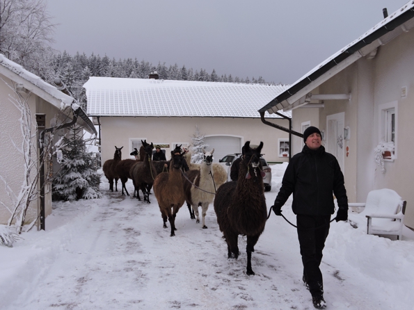
[[[51,95],[51,97],[56,99],[59,103],[65,104],[65,106],[70,106],[72,102],[74,101],[72,97],[65,95],[63,92],[58,90],[56,87],[50,85],[49,83],[46,83],[45,81],[40,79],[39,76],[27,71],[21,65],[18,65],[12,60],[9,60],[3,54],[0,54],[0,65],[10,70],[11,72],[17,74],[18,76],[22,77],[22,79],[28,81],[29,83],[37,86],[38,88],[40,88],[47,94]],[[45,98],[44,94],[40,92],[36,92],[35,90],[31,90],[31,91],[34,92],[35,95],[38,95],[42,99],[45,99],[46,101],[50,102],[50,99]],[[51,102],[51,104],[54,104],[57,108],[61,108],[61,104],[57,104],[57,102]]]

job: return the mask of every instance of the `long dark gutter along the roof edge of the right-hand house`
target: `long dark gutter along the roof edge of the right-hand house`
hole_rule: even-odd
[[[285,101],[289,99],[289,97],[292,97],[296,92],[302,90],[305,88],[305,86],[312,83],[312,81],[315,81],[316,79],[320,78],[322,75],[326,74],[329,70],[333,69],[340,63],[342,63],[344,60],[347,60],[349,56],[353,55],[356,51],[359,51],[360,49],[363,49],[363,47],[367,47],[367,45],[371,44],[375,40],[378,40],[386,33],[389,33],[390,31],[393,31],[398,26],[401,26],[408,20],[412,19],[414,17],[414,8],[411,8],[409,10],[406,10],[406,12],[402,13],[395,19],[392,19],[387,24],[381,26],[376,31],[372,32],[371,34],[367,35],[363,40],[360,40],[356,42],[356,44],[353,44],[348,49],[345,49],[342,51],[341,54],[333,58],[331,61],[320,67],[315,72],[312,72],[309,76],[305,76],[304,79],[299,81],[298,83],[294,84],[291,88],[285,90],[285,92],[282,92],[278,97],[273,99],[269,102],[269,104],[266,104],[263,108],[259,110],[260,113],[264,111],[269,111],[273,106],[276,106],[277,104],[280,104],[282,101]]]

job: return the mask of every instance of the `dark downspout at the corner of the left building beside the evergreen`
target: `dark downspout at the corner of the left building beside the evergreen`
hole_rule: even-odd
[[[74,125],[77,122],[78,119],[78,113],[81,111],[81,109],[77,109],[76,111],[73,111],[73,120],[71,122],[61,124],[58,127],[50,127],[47,129],[42,130],[39,133],[39,161],[40,161],[40,229],[45,230],[45,149],[43,147],[44,141],[45,141],[45,133],[51,133],[55,130],[63,129],[66,127],[70,127]]]

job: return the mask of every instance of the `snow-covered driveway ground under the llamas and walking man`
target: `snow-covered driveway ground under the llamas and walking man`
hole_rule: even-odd
[[[268,208],[285,165],[272,168]],[[153,195],[138,202],[102,182],[102,199],[55,203],[46,231],[0,246],[0,309],[313,309],[296,230],[283,218],[271,214],[249,277],[246,238],[239,259],[228,260],[213,205],[208,229],[183,206],[170,237]],[[291,203],[283,214],[296,222]],[[413,309],[414,237],[405,236],[368,236],[334,221],[321,263],[328,309]]]

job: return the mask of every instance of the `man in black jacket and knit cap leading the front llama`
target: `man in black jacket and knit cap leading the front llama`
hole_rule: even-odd
[[[315,308],[326,307],[324,284],[319,265],[329,233],[331,214],[335,212],[333,195],[337,198],[336,221],[348,219],[348,198],[344,175],[337,159],[321,146],[321,132],[308,127],[303,133],[305,146],[292,157],[282,179],[273,211],[282,215],[281,208],[293,193],[292,210],[303,263],[303,282],[312,295]]]

